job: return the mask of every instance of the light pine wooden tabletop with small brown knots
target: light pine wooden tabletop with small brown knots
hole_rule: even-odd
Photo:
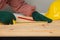
[[[22,23],[19,19],[15,25],[0,25],[0,36],[60,36],[60,21]]]

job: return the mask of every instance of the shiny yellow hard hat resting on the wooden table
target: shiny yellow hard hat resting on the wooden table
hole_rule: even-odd
[[[53,3],[51,3],[50,8],[45,16],[52,20],[60,20],[60,0],[55,0]]]

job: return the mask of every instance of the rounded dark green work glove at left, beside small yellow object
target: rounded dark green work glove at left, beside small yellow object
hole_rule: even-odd
[[[13,24],[13,20],[16,20],[16,17],[12,12],[0,11],[0,22],[3,24]]]

